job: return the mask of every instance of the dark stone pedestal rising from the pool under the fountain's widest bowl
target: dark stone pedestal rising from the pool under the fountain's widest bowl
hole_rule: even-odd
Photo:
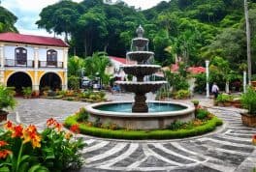
[[[135,96],[135,102],[133,103],[133,112],[148,112],[148,106],[145,102],[146,97],[145,95],[136,94]]]

